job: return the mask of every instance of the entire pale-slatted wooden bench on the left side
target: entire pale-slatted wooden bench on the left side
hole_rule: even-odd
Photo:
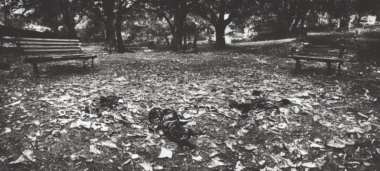
[[[84,61],[91,59],[91,68],[93,68],[93,59],[97,57],[97,55],[94,54],[82,54],[79,40],[18,38],[17,44],[21,48],[24,63],[33,65],[33,75],[35,77],[40,76],[37,66],[38,63],[83,59],[84,67]],[[79,54],[46,55],[57,52],[77,52]],[[28,57],[28,53],[45,53],[45,55]]]

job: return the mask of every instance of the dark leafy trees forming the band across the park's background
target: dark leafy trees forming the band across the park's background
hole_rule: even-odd
[[[191,48],[186,42],[192,36],[197,39],[201,33],[211,35],[215,31],[214,48],[221,50],[226,49],[225,29],[230,24],[236,30],[299,32],[316,21],[316,16],[328,15],[329,22],[339,20],[342,27],[348,25],[352,15],[360,22],[363,16],[380,14],[380,1],[0,0],[0,9],[0,22],[4,25],[12,26],[14,16],[21,14],[17,17],[24,23],[49,27],[64,38],[78,39],[79,32],[87,32],[82,36],[94,36],[91,32],[97,30],[106,50],[123,53],[127,52],[123,34],[139,27],[148,40],[165,40],[173,51]],[[81,22],[87,23],[84,31],[76,27]],[[66,34],[60,33],[62,27]],[[141,30],[138,32],[142,36]],[[129,35],[132,34],[137,35]]]

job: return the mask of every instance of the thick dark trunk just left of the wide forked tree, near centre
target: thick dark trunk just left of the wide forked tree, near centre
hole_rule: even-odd
[[[177,0],[176,14],[174,16],[174,23],[172,34],[173,40],[171,42],[171,48],[173,51],[182,49],[182,38],[184,35],[185,21],[187,17],[186,0]],[[173,33],[174,32],[174,33]]]

